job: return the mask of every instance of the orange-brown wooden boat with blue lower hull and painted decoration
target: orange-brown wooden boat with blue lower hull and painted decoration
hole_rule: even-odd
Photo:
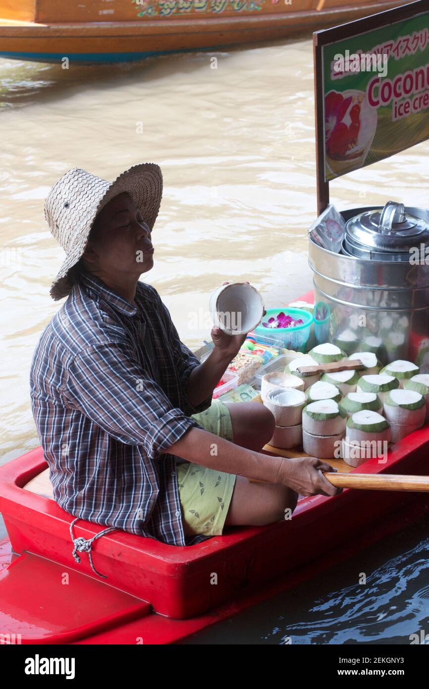
[[[0,56],[118,62],[293,37],[406,0],[0,0]]]

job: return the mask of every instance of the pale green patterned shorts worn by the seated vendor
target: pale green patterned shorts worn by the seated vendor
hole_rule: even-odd
[[[231,415],[223,402],[213,400],[209,409],[193,414],[191,418],[206,431],[233,440]],[[221,535],[236,475],[183,462],[177,465],[177,477],[185,535]]]

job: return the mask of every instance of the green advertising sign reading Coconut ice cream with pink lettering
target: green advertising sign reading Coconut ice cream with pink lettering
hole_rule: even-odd
[[[428,2],[317,32],[315,82],[321,181],[425,141]]]

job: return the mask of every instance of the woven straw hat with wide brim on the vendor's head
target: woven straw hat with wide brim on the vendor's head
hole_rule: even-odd
[[[74,167],[52,187],[45,200],[45,219],[63,247],[66,257],[50,295],[61,299],[74,284],[73,267],[79,263],[96,215],[114,196],[128,192],[152,229],[163,196],[163,175],[159,165],[140,163],[130,167],[114,182]]]

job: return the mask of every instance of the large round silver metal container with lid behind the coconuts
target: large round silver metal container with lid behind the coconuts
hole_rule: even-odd
[[[341,215],[342,254],[309,236],[317,342],[333,342],[347,353],[374,351],[383,364],[410,360],[428,373],[429,210],[389,202],[384,209]],[[317,312],[324,327],[317,327]]]

